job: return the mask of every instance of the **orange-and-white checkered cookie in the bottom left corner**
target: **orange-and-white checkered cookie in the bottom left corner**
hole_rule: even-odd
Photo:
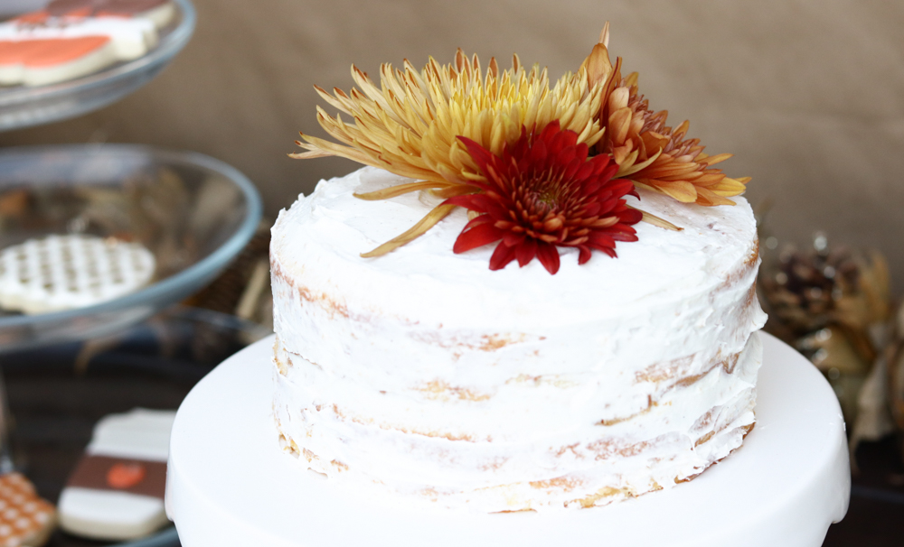
[[[0,477],[0,547],[39,547],[56,521],[53,505],[19,473]]]

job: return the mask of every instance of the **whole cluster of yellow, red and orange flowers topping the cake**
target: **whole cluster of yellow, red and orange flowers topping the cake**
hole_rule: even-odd
[[[317,121],[338,143],[301,134],[306,159],[340,156],[413,179],[365,194],[389,199],[428,190],[445,199],[415,226],[362,256],[380,256],[427,232],[453,209],[468,209],[469,222],[453,251],[498,242],[490,269],[537,258],[559,270],[561,246],[616,256],[616,243],[636,241],[641,220],[667,229],[668,221],[627,205],[642,188],[683,203],[733,205],[749,178],[732,179],[712,167],[731,154],[703,153],[687,138],[688,122],[667,124],[640,95],[637,73],[621,74],[621,58],[609,59],[608,23],[575,73],[554,86],[545,69],[526,69],[517,55],[500,70],[491,59],[484,72],[475,55],[457,51],[453,65],[432,57],[423,70],[408,60],[403,70],[381,65],[378,88],[352,67],[360,88],[320,97],[341,113],[317,107]]]

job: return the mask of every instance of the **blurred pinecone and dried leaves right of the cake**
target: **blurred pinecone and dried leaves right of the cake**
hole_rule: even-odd
[[[896,394],[885,382],[904,371],[896,371],[904,361],[895,352],[904,345],[894,339],[888,264],[878,251],[831,245],[822,232],[811,249],[786,246],[770,258],[758,279],[769,314],[765,330],[810,359],[832,385],[852,430],[855,467],[857,444],[890,431],[886,397]]]

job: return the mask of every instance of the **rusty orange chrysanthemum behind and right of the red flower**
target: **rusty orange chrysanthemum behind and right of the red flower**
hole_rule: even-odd
[[[603,99],[597,113],[606,133],[596,144],[598,153],[611,154],[618,178],[635,181],[684,203],[734,205],[728,199],[745,189],[749,178],[731,179],[711,166],[729,153],[703,153],[699,139],[686,138],[689,123],[666,125],[668,111],[654,113],[639,95],[637,73],[622,78],[621,58],[613,65],[608,53],[608,23],[581,69],[588,84],[601,85]]]

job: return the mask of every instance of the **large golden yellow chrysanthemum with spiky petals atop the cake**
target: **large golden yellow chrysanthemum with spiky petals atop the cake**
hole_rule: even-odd
[[[496,154],[522,134],[541,131],[558,120],[562,129],[579,134],[578,142],[596,144],[603,130],[598,121],[599,86],[591,86],[580,70],[566,74],[553,88],[545,69],[526,70],[513,57],[513,66],[500,71],[494,59],[486,73],[475,55],[468,60],[458,50],[455,65],[439,65],[430,58],[423,70],[408,60],[404,70],[381,65],[381,87],[352,67],[352,78],[361,90],[346,94],[334,88],[330,95],[316,88],[327,103],[352,116],[345,123],[317,108],[317,121],[341,144],[302,134],[297,144],[308,152],[294,158],[341,156],[380,167],[416,182],[359,195],[363,199],[387,199],[415,190],[433,190],[442,197],[476,191],[469,181],[480,179],[476,164],[459,136],[465,136]],[[430,211],[418,225],[365,256],[383,255],[426,232],[454,207]]]

